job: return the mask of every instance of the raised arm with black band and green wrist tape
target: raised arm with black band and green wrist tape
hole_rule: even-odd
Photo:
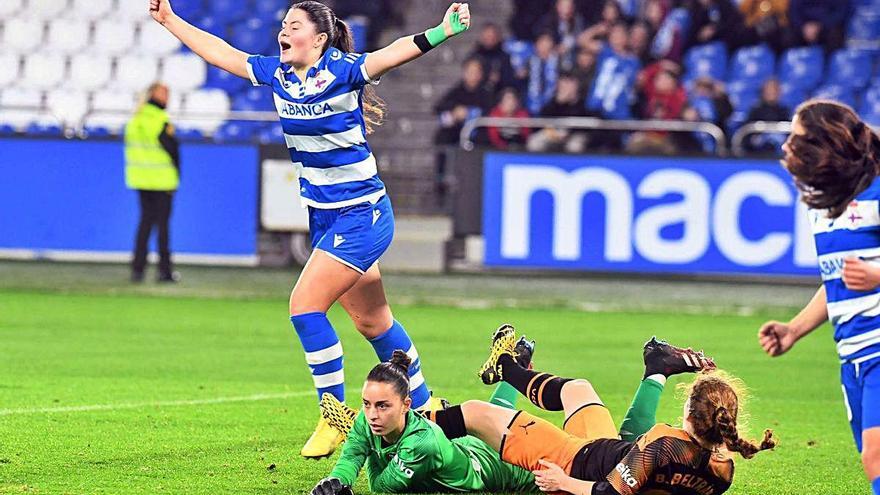
[[[368,54],[364,60],[367,74],[372,79],[379,79],[389,70],[419,58],[431,48],[464,32],[470,25],[471,13],[468,4],[453,3],[446,10],[440,25],[424,33],[398,38],[385,48]]]

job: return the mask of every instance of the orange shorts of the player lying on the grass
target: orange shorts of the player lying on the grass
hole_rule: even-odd
[[[550,461],[571,472],[572,462],[588,443],[599,438],[618,438],[608,409],[590,404],[578,409],[565,422],[565,429],[527,412],[519,411],[501,440],[501,459],[534,471]]]

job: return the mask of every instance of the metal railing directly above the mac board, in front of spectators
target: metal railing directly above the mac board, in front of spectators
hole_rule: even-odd
[[[584,129],[606,131],[670,131],[703,132],[715,140],[715,153],[727,155],[726,136],[720,127],[711,122],[684,120],[604,120],[596,117],[479,117],[465,123],[459,143],[467,151],[474,149],[471,135],[482,127],[553,127],[561,129]]]

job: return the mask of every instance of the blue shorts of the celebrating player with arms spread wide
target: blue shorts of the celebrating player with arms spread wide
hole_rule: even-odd
[[[391,200],[383,196],[376,204],[365,202],[334,210],[309,207],[309,232],[312,249],[364,273],[394,237]]]

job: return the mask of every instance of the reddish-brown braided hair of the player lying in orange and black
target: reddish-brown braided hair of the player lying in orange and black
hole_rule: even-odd
[[[714,445],[724,445],[731,452],[739,452],[746,459],[776,446],[771,430],[764,430],[760,445],[741,438],[737,416],[746,397],[742,381],[723,371],[700,374],[688,387],[688,420],[694,433]]]

